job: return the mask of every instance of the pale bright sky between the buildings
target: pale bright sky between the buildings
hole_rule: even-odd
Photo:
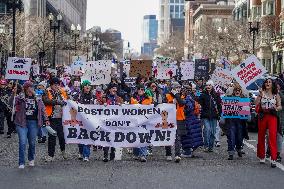
[[[143,16],[158,16],[159,0],[88,0],[87,29],[100,26],[121,31],[131,48],[140,52]]]

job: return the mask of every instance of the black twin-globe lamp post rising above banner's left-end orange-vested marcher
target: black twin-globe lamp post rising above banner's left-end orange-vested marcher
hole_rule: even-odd
[[[56,49],[55,49],[55,45],[56,45],[56,31],[60,31],[60,24],[62,21],[62,16],[59,13],[56,17],[56,19],[54,18],[53,14],[50,13],[48,16],[49,19],[49,23],[50,23],[50,31],[53,31],[53,58],[52,58],[52,67],[55,69],[56,65],[55,65],[55,57],[56,57]]]

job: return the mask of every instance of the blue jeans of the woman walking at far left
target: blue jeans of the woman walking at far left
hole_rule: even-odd
[[[35,144],[38,132],[37,120],[27,120],[26,127],[17,125],[17,132],[19,136],[19,165],[25,165],[25,153],[27,140],[29,142],[28,160],[35,159]]]

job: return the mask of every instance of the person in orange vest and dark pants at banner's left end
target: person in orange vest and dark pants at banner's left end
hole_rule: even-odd
[[[62,114],[63,106],[66,105],[65,100],[68,96],[63,88],[60,87],[60,79],[52,78],[50,81],[50,87],[47,89],[46,94],[42,97],[43,102],[46,106],[46,113],[49,117],[50,126],[57,132],[60,150],[62,157],[67,159],[65,153],[65,139],[62,126]],[[52,161],[55,153],[56,136],[51,134],[48,135],[48,157],[46,161]]]

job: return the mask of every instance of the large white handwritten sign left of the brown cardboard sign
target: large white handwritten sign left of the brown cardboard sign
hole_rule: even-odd
[[[111,81],[112,60],[87,62],[82,80],[89,80],[92,85],[109,84]]]

